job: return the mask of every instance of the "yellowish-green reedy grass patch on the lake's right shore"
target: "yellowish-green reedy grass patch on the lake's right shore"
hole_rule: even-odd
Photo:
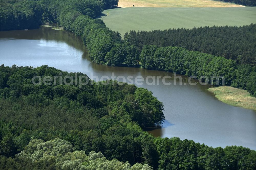
[[[212,92],[218,100],[224,103],[256,111],[256,98],[250,96],[246,90],[230,86],[219,86],[207,90]]]

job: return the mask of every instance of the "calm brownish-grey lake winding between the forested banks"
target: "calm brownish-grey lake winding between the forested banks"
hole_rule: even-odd
[[[48,65],[63,71],[82,72],[89,77],[91,74],[110,77],[112,72],[116,77],[121,75],[125,78],[138,75],[144,78],[173,77],[172,73],[163,71],[92,63],[79,37],[68,31],[50,28],[0,32],[0,64]],[[191,139],[212,147],[241,145],[256,150],[255,112],[222,103],[206,92],[210,86],[191,86],[187,77],[182,77],[182,85],[175,86],[173,79],[166,79],[167,83],[172,83],[166,86],[160,78],[159,85],[150,86],[144,82],[139,86],[152,91],[164,104],[165,123],[162,128],[149,132],[155,136]]]

